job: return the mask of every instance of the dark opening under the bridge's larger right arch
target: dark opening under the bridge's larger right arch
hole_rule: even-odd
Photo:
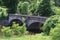
[[[42,32],[42,26],[43,24],[40,22],[33,22],[29,25],[28,30],[35,33],[40,33]]]

